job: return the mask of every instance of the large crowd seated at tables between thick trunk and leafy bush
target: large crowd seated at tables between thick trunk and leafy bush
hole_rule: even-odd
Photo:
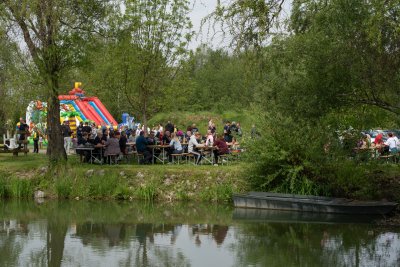
[[[110,160],[109,156],[121,159],[134,149],[143,156],[141,164],[155,163],[164,151],[169,163],[172,162],[173,155],[188,153],[194,156],[196,164],[200,164],[205,151],[209,150],[213,153],[213,163],[218,165],[219,156],[229,154],[231,149],[240,149],[236,137],[242,135],[240,123],[229,121],[225,123],[223,132],[218,134],[212,119],[208,122],[205,135],[199,132],[196,124],[184,130],[171,121],[165,126],[159,124],[152,129],[116,129],[105,126],[99,128],[94,123],[84,122],[77,127],[76,137],[72,137],[73,131],[68,124],[68,120],[64,121],[61,128],[65,151],[69,154],[71,145],[77,148],[90,147],[93,148],[91,153],[84,149],[78,149],[77,153],[82,155],[84,161],[91,161],[95,155],[98,162]],[[154,145],[159,146],[155,148]]]

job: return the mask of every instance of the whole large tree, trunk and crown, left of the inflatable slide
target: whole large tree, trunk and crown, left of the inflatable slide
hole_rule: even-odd
[[[3,21],[14,28],[39,73],[48,102],[47,154],[51,163],[66,160],[60,128],[59,83],[63,72],[79,61],[84,43],[98,30],[109,1],[4,0]]]

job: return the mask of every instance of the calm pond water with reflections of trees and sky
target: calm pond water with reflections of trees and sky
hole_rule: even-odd
[[[2,201],[0,266],[400,266],[400,229],[365,219],[198,203]]]

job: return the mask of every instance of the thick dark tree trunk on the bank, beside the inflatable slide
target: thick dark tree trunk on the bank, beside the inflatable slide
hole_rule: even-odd
[[[50,164],[67,160],[64,150],[64,138],[61,134],[60,101],[58,100],[58,81],[54,76],[51,82],[50,96],[47,101],[47,156]]]

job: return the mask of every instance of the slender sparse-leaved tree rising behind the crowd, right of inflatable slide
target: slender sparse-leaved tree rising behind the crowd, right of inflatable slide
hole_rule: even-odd
[[[134,57],[124,56],[124,87],[132,107],[148,116],[162,101],[162,88],[175,77],[192,38],[188,0],[127,0],[125,44]],[[126,52],[124,53],[127,54]],[[147,128],[147,127],[145,127]]]

